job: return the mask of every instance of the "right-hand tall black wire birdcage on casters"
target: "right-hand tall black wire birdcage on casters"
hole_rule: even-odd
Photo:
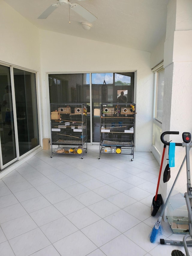
[[[135,114],[134,103],[101,104],[100,153],[134,155]]]

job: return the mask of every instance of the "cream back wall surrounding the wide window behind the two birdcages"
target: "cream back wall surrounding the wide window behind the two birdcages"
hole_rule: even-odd
[[[40,31],[41,89],[44,137],[47,126],[46,72],[137,71],[136,150],[151,151],[153,74],[150,53],[55,32]]]

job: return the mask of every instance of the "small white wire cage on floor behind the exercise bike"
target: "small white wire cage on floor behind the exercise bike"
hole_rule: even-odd
[[[170,197],[166,217],[173,233],[189,232],[188,211],[183,194],[178,193]]]

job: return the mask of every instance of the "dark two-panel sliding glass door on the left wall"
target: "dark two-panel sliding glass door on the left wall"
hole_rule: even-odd
[[[36,74],[0,65],[0,167],[39,145]]]

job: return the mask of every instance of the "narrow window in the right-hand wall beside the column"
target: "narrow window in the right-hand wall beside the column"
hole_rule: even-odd
[[[164,68],[163,63],[152,70],[155,74],[155,95],[154,95],[154,118],[153,118],[153,148],[152,153],[161,152],[161,132],[163,118],[163,98],[164,98]],[[156,152],[154,152],[154,150]],[[157,159],[158,160],[158,159]]]

